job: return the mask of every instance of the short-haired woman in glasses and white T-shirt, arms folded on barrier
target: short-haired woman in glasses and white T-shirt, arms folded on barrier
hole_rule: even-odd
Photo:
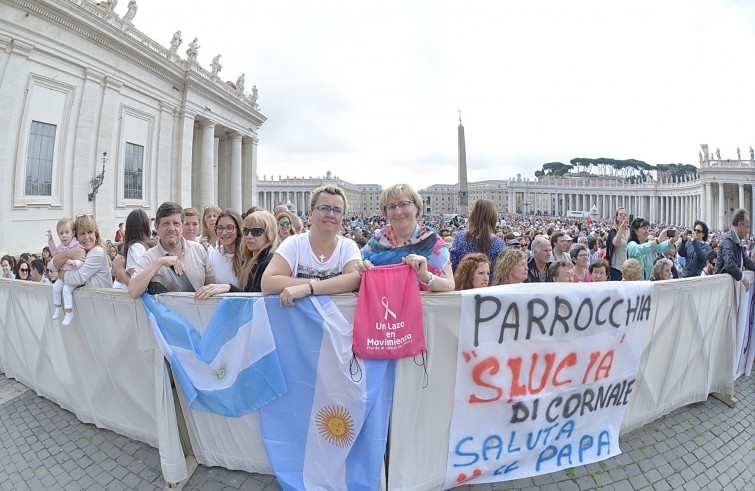
[[[346,213],[346,193],[324,185],[312,191],[312,226],[283,241],[262,275],[262,293],[280,294],[281,304],[307,295],[331,295],[359,288],[359,249],[338,235]]]

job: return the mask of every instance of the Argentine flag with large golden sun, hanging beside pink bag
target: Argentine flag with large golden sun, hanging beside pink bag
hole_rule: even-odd
[[[287,491],[378,489],[395,360],[359,360],[351,375],[352,325],[326,296],[289,308],[276,295],[266,305],[288,385],[260,409],[278,483]]]

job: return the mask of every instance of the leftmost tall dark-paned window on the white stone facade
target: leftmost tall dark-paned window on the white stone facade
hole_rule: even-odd
[[[55,148],[54,124],[32,121],[29,129],[29,146],[26,149],[27,196],[52,195],[52,153]]]

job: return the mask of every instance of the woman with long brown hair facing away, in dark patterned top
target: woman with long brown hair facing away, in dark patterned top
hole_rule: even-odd
[[[454,237],[451,246],[451,267],[456,271],[464,256],[473,252],[481,252],[488,256],[490,264],[495,265],[496,258],[506,248],[506,243],[495,234],[498,222],[498,212],[495,205],[488,199],[478,199],[469,214],[467,230],[459,232]],[[490,271],[490,279],[493,271]]]

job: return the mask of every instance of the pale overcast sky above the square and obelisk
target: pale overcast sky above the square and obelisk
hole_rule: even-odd
[[[126,2],[116,12],[123,15]],[[137,29],[260,111],[258,175],[416,189],[575,157],[698,165],[755,146],[755,1],[141,0]]]

